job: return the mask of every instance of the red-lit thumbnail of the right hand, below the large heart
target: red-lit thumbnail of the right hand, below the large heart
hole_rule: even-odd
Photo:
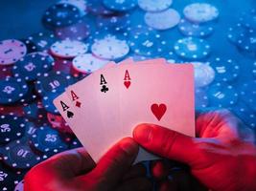
[[[146,143],[151,139],[152,127],[147,124],[138,125],[133,133],[135,140]]]

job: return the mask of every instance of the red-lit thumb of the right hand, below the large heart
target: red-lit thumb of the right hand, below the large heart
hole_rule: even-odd
[[[133,138],[147,150],[159,156],[193,165],[199,150],[196,138],[153,125],[140,124],[133,130]]]

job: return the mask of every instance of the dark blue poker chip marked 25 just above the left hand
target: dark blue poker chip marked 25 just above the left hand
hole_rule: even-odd
[[[50,127],[40,127],[30,139],[30,144],[39,152],[49,152],[54,149],[65,150],[67,144],[62,141],[58,131]]]

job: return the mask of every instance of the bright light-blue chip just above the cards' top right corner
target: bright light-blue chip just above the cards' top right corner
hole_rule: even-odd
[[[186,59],[202,59],[209,55],[210,45],[196,37],[186,37],[175,42],[175,53]]]

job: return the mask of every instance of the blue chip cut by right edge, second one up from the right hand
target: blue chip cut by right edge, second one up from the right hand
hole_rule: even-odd
[[[256,112],[256,80],[251,80],[242,85],[240,96],[244,102]]]

